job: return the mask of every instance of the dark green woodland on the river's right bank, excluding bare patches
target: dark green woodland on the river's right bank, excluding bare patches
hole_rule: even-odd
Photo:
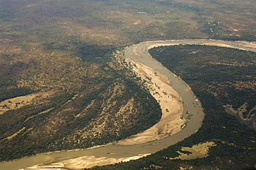
[[[93,169],[254,169],[256,133],[229,115],[223,105],[233,104],[237,109],[248,102],[248,111],[255,107],[256,54],[196,45],[158,47],[150,54],[191,86],[205,111],[203,124],[182,142],[147,158]],[[169,159],[178,156],[181,147],[207,141],[217,146],[210,148],[206,158]]]

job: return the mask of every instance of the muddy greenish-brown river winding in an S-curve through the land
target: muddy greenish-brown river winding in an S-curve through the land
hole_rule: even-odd
[[[144,153],[155,153],[161,149],[165,149],[172,144],[176,144],[195,133],[201,126],[203,121],[203,109],[200,102],[196,99],[190,88],[179,77],[176,77],[169,70],[167,70],[161,63],[157,62],[147,53],[147,47],[161,44],[161,45],[176,45],[176,44],[207,44],[216,46],[229,46],[231,48],[242,48],[244,50],[251,50],[256,52],[255,48],[246,48],[246,42],[238,41],[215,41],[209,39],[191,39],[191,40],[169,40],[169,41],[148,41],[134,46],[129,46],[125,50],[125,54],[130,59],[134,59],[146,66],[158,70],[163,75],[166,75],[172,82],[172,87],[179,93],[183,99],[184,112],[190,111],[192,117],[188,122],[185,129],[162,140],[156,140],[154,142],[147,142],[146,144],[136,144],[131,146],[119,146],[111,144],[106,147],[99,147],[96,149],[89,149],[84,151],[60,151],[58,153],[35,155],[28,158],[22,158],[19,160],[13,160],[11,162],[1,162],[0,170],[15,170],[25,167],[31,167],[35,164],[40,164],[48,160],[66,160],[76,158],[84,155],[97,155],[111,158],[124,158]],[[134,55],[134,49],[136,49],[137,55]],[[140,56],[140,57],[139,57]],[[196,104],[196,105],[195,105]],[[115,154],[109,154],[115,153]]]

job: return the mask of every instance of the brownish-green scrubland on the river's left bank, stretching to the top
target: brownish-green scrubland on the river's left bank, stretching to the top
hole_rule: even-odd
[[[253,41],[255,8],[250,0],[0,0],[0,102],[38,94],[0,115],[1,160],[146,129],[158,106],[113,61],[113,49],[160,39]]]

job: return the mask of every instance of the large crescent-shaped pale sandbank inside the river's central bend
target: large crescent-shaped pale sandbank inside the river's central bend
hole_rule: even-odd
[[[163,115],[157,124],[143,133],[138,133],[132,138],[121,140],[116,144],[142,144],[152,140],[166,138],[181,131],[181,126],[185,123],[185,120],[181,119],[181,115],[183,114],[182,99],[174,91],[172,86],[170,86],[170,80],[165,75],[148,66],[131,60],[129,62],[134,64],[132,70],[134,70],[138,77],[147,81],[145,86],[147,86],[151,95],[158,101]]]

